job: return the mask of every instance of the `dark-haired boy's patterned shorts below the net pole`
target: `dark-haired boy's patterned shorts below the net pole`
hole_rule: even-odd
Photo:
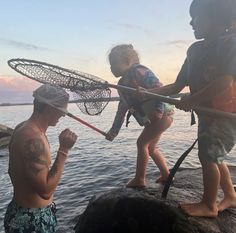
[[[220,164],[236,143],[236,120],[198,116],[198,152]]]

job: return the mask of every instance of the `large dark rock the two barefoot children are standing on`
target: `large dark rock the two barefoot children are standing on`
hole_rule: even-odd
[[[230,168],[235,180],[236,168]],[[188,217],[178,203],[201,199],[201,169],[178,171],[167,200],[163,186],[111,190],[90,201],[76,224],[76,233],[235,233],[236,210],[217,218]],[[222,192],[219,193],[222,198]]]

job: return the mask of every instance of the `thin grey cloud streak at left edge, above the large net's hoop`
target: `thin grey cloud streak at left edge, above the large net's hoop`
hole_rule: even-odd
[[[48,48],[44,48],[37,45],[16,41],[16,40],[11,40],[7,38],[0,38],[0,43],[3,43],[4,45],[8,45],[14,48],[25,49],[25,50],[40,50],[40,51],[49,50]]]

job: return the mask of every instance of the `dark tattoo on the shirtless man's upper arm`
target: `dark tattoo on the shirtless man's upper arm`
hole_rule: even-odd
[[[45,168],[48,169],[44,155],[45,148],[41,139],[33,138],[26,141],[24,162],[35,175]]]

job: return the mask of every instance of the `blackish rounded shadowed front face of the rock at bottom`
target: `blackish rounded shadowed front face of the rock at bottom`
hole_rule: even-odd
[[[77,233],[197,233],[178,208],[135,190],[113,190],[93,200]]]

